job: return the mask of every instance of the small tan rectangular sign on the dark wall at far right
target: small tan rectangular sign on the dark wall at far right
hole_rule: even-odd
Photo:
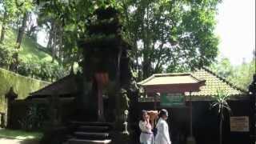
[[[230,117],[230,131],[249,132],[249,117]]]

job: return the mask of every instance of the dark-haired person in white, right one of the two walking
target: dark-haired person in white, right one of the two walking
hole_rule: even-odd
[[[155,136],[155,144],[171,144],[169,135],[169,126],[166,122],[168,118],[167,110],[161,110],[157,124],[157,135]]]

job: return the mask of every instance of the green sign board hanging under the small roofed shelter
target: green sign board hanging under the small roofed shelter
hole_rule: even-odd
[[[161,94],[160,106],[162,107],[185,106],[185,95],[184,94]]]

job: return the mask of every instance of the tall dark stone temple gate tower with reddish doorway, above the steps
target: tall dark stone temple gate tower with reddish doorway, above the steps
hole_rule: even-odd
[[[96,10],[90,19],[88,33],[79,44],[84,61],[78,105],[89,110],[87,112],[97,114],[99,122],[118,121],[118,116],[128,110],[125,93],[132,77],[129,57],[131,47],[122,38],[118,11],[112,8]],[[103,98],[109,99],[108,107],[104,106]],[[108,110],[109,114],[104,110]]]

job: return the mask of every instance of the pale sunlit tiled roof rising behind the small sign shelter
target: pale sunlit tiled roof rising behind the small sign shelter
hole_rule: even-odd
[[[193,92],[192,95],[194,96],[214,96],[217,95],[217,90],[224,90],[224,93],[228,95],[247,94],[246,90],[234,86],[225,78],[219,77],[218,74],[214,74],[206,68],[194,71],[193,75],[196,78],[206,80],[206,86],[202,86],[199,92]],[[186,95],[188,94],[186,93]]]

